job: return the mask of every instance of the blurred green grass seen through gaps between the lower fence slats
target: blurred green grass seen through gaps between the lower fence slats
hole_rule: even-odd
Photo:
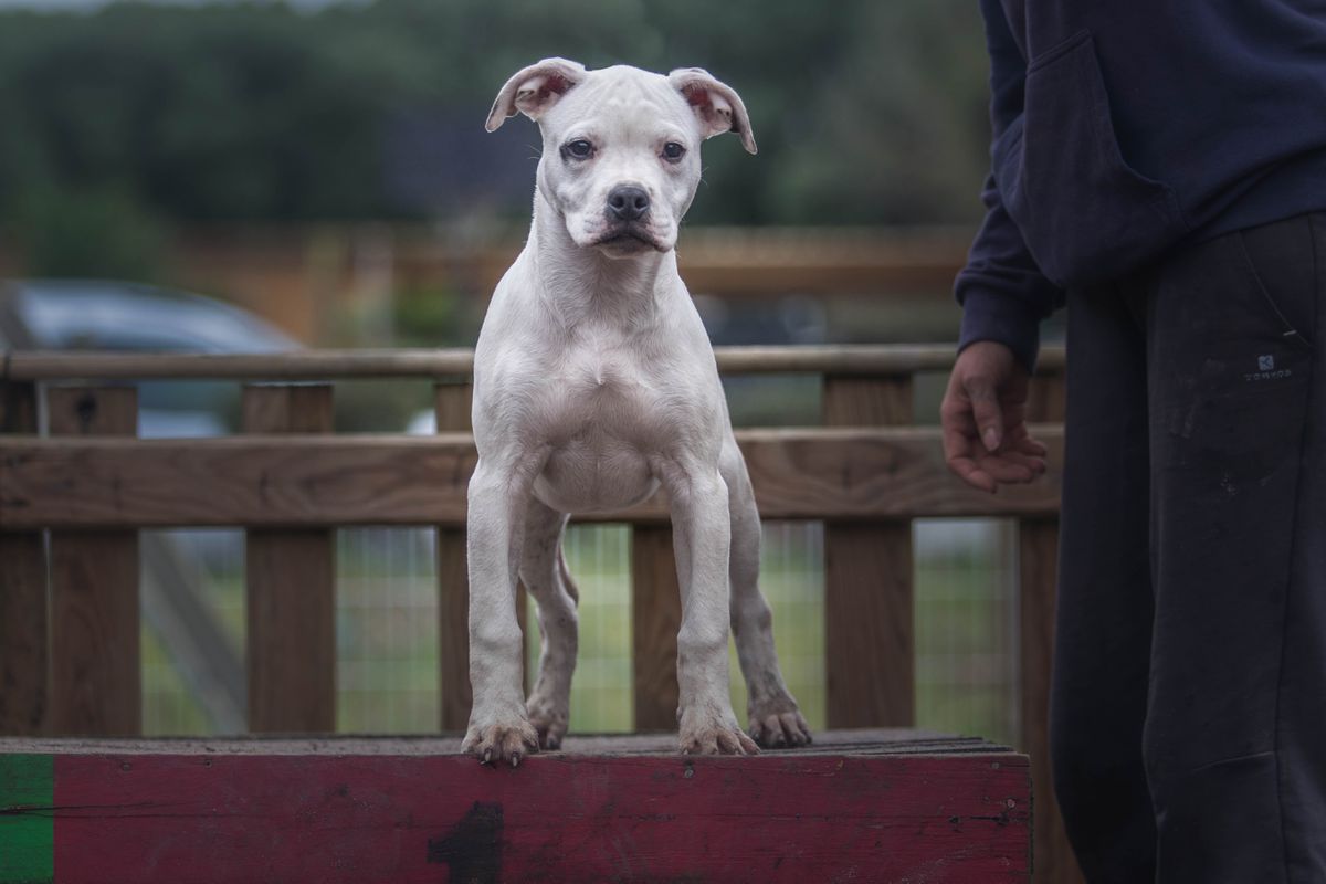
[[[918,531],[935,530],[918,524]],[[431,547],[419,531],[345,530],[338,542],[337,726],[355,733],[430,733],[438,726],[438,612]],[[630,531],[573,526],[566,557],[581,592],[581,644],[572,691],[577,732],[630,732]],[[916,724],[1016,740],[1006,557],[956,545],[918,555]],[[243,648],[240,575],[213,575],[208,598]],[[774,611],[784,676],[813,728],[825,726],[822,529],[765,526],[761,586]],[[528,611],[526,665],[538,661]],[[745,720],[745,687],[731,656],[732,702]],[[143,630],[145,730],[206,734],[210,724],[151,631]]]

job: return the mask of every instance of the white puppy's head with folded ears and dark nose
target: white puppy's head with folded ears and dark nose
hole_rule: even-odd
[[[736,133],[756,151],[741,97],[699,68],[664,77],[546,58],[507,81],[488,131],[516,111],[544,134],[538,187],[572,240],[614,257],[676,245],[704,139]]]

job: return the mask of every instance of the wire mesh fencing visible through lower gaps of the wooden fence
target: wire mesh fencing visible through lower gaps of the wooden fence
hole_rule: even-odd
[[[572,728],[582,733],[630,732],[630,529],[573,525],[564,543],[581,595]],[[241,733],[243,533],[145,531],[145,733]],[[916,725],[1016,742],[1012,526],[993,520],[918,520],[914,547]],[[337,533],[337,574],[338,730],[436,732],[434,533],[342,529]],[[821,524],[765,525],[761,587],[773,607],[788,687],[810,725],[823,728]],[[526,665],[533,672],[538,661],[533,608],[526,623]],[[731,673],[733,709],[744,720],[745,685],[735,649]]]

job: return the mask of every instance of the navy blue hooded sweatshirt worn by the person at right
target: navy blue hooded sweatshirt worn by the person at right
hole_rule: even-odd
[[[1032,366],[1067,286],[1326,209],[1326,0],[980,0],[988,208],[960,346]]]

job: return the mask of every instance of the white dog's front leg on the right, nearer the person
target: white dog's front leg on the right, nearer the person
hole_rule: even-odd
[[[713,465],[668,465],[672,537],[682,586],[676,636],[679,738],[687,754],[756,754],[728,691],[728,490]]]

